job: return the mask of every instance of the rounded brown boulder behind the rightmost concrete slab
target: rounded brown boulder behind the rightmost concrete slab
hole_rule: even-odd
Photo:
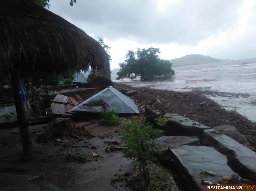
[[[225,135],[229,136],[230,138],[238,141],[239,143],[241,143],[243,145],[249,145],[249,141],[246,139],[246,137],[243,136],[242,134],[240,134],[237,131],[237,128],[234,126],[220,125],[220,126],[213,127],[213,129],[220,132],[221,134],[225,134]]]

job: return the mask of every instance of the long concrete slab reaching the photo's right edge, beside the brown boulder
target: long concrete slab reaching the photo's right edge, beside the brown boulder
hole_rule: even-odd
[[[216,132],[214,129],[204,130],[203,144],[214,146],[226,155],[229,165],[245,179],[256,181],[256,153],[236,140]]]

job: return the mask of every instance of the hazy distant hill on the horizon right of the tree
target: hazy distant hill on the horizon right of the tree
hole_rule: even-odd
[[[196,65],[196,64],[206,64],[213,62],[222,62],[226,60],[212,58],[210,56],[204,55],[186,55],[181,58],[175,58],[170,60],[172,67],[185,66],[185,65]]]

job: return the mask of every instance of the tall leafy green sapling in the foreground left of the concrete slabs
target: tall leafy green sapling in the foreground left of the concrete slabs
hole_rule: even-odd
[[[157,155],[161,152],[162,145],[155,139],[162,136],[162,131],[153,129],[145,118],[133,116],[131,120],[126,120],[121,131],[122,141],[126,143],[123,148],[130,157],[135,167],[138,167],[144,177],[144,184],[147,187],[150,183],[149,163],[157,160]],[[152,183],[156,186],[155,183]]]

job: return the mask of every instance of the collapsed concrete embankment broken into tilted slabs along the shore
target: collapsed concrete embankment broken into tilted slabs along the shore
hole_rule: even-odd
[[[160,161],[172,172],[180,190],[204,190],[202,179],[219,184],[255,183],[256,153],[230,135],[177,114],[147,113],[151,113],[147,116],[150,122],[157,116],[168,120],[164,126],[155,124],[164,131],[166,136],[159,140],[168,147]]]

